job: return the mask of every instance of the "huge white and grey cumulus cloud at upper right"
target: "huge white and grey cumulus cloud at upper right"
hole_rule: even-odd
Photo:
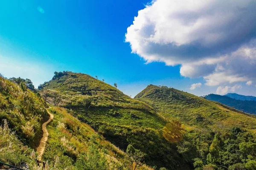
[[[147,63],[181,65],[206,85],[256,80],[255,0],[153,0],[125,41]]]

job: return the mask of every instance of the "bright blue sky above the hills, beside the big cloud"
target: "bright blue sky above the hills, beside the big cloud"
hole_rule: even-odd
[[[30,78],[36,86],[49,81],[54,71],[82,72],[97,75],[109,84],[117,83],[120,90],[132,96],[148,84],[172,86],[195,95],[216,93],[218,86],[231,89],[236,84],[243,86],[236,92],[256,95],[254,84],[245,85],[253,78],[207,86],[207,75],[182,74],[186,63],[150,60],[139,50],[131,53],[133,42],[131,38],[125,42],[125,34],[138,11],[154,5],[145,7],[147,3],[148,0],[0,1],[0,72],[6,77]],[[200,88],[189,89],[196,83],[202,84]]]

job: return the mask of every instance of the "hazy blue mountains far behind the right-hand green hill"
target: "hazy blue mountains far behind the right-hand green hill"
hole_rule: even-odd
[[[236,94],[236,93],[232,93],[232,94]],[[227,95],[215,95],[215,94],[206,95],[205,98],[207,100],[220,102],[229,107],[233,107],[235,109],[241,110],[242,112],[256,114],[256,101],[236,100],[234,98],[228,97]]]

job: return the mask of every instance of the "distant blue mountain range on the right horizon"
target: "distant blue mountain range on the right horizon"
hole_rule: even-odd
[[[204,96],[204,98],[211,101],[217,101],[221,104],[225,104],[243,112],[256,114],[256,97],[254,96],[228,93],[227,95],[209,94]]]

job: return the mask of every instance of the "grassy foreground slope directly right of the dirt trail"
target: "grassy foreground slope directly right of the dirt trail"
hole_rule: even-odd
[[[48,126],[49,140],[43,158],[52,167],[66,170],[130,168],[127,154],[87,124],[81,123],[64,108],[54,107],[49,110],[54,114],[54,119]],[[140,168],[150,170],[145,165]]]

